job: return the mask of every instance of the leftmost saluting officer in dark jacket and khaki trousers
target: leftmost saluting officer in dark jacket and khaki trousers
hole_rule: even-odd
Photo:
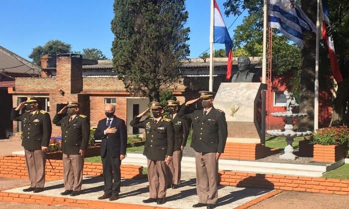
[[[39,102],[39,98],[28,97],[11,112],[11,120],[21,121],[23,131],[22,146],[30,180],[30,187],[23,192],[39,193],[45,185],[45,151],[50,142],[52,126],[50,115],[39,109]],[[24,106],[27,111],[19,114]]]

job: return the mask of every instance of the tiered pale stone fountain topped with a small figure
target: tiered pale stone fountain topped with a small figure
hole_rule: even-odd
[[[292,147],[292,143],[294,141],[295,137],[299,136],[309,136],[312,132],[311,131],[294,131],[293,125],[292,125],[292,119],[293,118],[302,118],[307,116],[307,113],[293,113],[292,109],[294,106],[297,106],[296,100],[293,96],[293,93],[291,92],[284,92],[284,95],[286,96],[287,102],[286,102],[286,112],[272,112],[271,115],[274,117],[285,117],[287,119],[287,122],[285,124],[285,130],[282,131],[280,129],[274,129],[274,130],[268,130],[267,133],[272,136],[284,136],[286,137],[286,143],[287,146],[285,147],[285,153],[280,155],[281,159],[287,159],[287,160],[295,160],[297,156],[293,154],[294,149]]]

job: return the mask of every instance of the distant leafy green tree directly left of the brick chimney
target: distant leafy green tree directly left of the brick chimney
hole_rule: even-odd
[[[71,50],[71,45],[64,43],[60,40],[50,40],[44,46],[37,46],[33,48],[33,51],[29,55],[30,59],[33,59],[34,63],[41,65],[40,58],[45,54],[65,54],[69,53]]]

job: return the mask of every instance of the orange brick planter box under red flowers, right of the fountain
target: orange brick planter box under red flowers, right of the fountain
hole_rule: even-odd
[[[320,145],[314,144],[314,161],[336,162],[346,156],[346,145]]]

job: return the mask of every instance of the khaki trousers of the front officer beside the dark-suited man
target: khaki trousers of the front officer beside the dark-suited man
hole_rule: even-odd
[[[149,194],[151,198],[165,198],[168,167],[163,160],[148,161]]]

